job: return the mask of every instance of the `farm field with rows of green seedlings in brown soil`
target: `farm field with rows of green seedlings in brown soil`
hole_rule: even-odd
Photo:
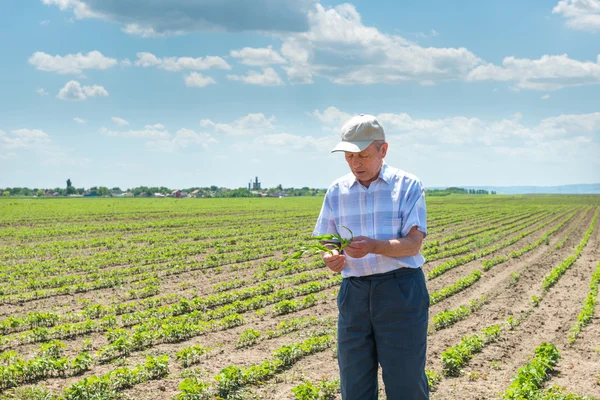
[[[0,200],[0,399],[339,399],[321,201]],[[600,196],[427,207],[431,398],[600,398]]]

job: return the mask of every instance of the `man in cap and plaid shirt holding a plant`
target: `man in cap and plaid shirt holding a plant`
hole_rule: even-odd
[[[346,237],[344,226],[355,235],[342,254],[323,255],[344,278],[337,300],[342,399],[377,399],[378,364],[388,400],[428,399],[423,186],[384,162],[388,144],[375,117],[350,118],[341,136],[332,152],[344,152],[351,173],[329,187],[313,235]]]

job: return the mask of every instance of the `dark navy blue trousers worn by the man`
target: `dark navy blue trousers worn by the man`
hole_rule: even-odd
[[[344,278],[337,301],[342,399],[377,400],[377,364],[387,400],[429,399],[429,293],[422,269]]]

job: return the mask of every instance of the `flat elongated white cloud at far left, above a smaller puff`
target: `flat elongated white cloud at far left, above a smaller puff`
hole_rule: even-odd
[[[81,74],[86,69],[107,69],[117,65],[114,58],[105,57],[99,51],[90,51],[87,54],[67,54],[66,56],[52,56],[41,51],[36,51],[29,58],[29,63],[40,71],[51,71],[59,74]]]

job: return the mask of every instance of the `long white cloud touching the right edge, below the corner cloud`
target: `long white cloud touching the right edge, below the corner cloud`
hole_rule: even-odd
[[[543,91],[600,83],[600,63],[573,60],[566,54],[539,60],[506,57],[502,65],[481,65],[469,73],[467,81],[515,82],[519,89]]]

